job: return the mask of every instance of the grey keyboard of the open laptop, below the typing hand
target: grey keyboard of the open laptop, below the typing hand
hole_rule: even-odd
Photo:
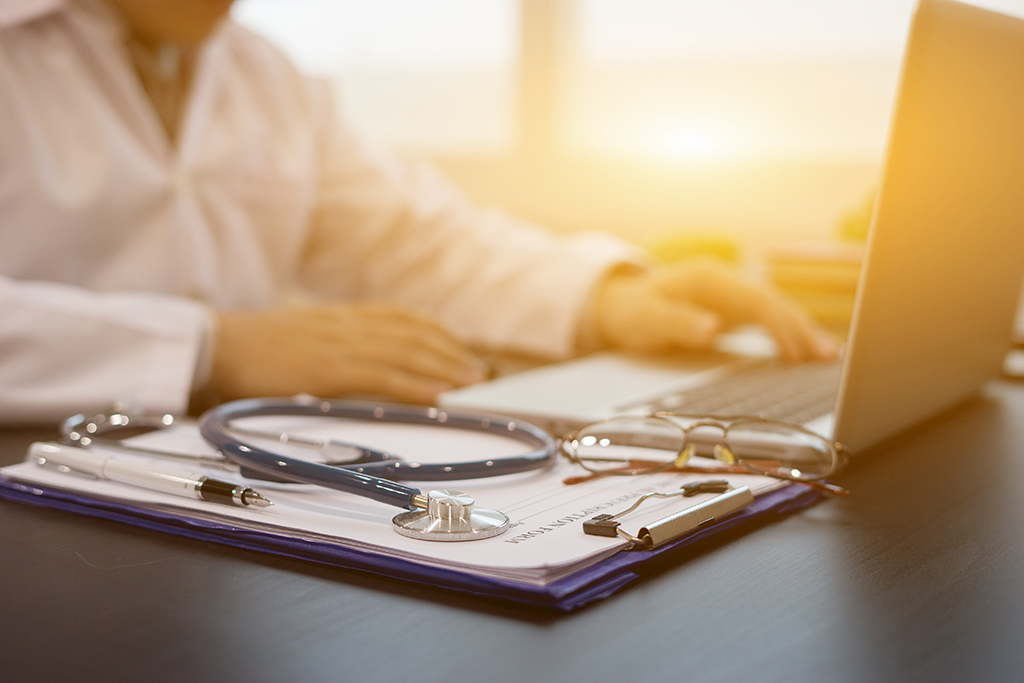
[[[620,408],[691,415],[756,415],[803,424],[831,412],[839,372],[839,361],[799,366],[768,361],[705,386]]]

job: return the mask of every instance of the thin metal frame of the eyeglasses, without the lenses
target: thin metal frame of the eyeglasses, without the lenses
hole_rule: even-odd
[[[690,422],[689,424],[686,424],[686,425],[682,425],[682,424],[679,424],[679,422],[677,422],[673,418],[675,418],[675,419],[681,419],[681,420],[690,420],[692,422]],[[676,452],[676,457],[673,460],[664,463],[659,467],[654,467],[654,468],[650,468],[650,469],[627,470],[626,468],[623,468],[623,470],[601,470],[601,471],[597,471],[597,470],[594,470],[594,469],[588,467],[586,464],[584,464],[582,458],[580,458],[575,453],[569,453],[568,449],[566,447],[566,444],[568,444],[570,442],[577,441],[578,440],[577,439],[578,435],[582,431],[584,431],[586,429],[589,429],[591,427],[596,427],[596,426],[599,426],[599,425],[602,425],[602,424],[608,424],[608,423],[611,423],[611,422],[617,422],[617,421],[622,421],[622,420],[631,420],[631,419],[633,419],[633,420],[651,420],[651,419],[660,420],[660,421],[666,422],[667,424],[672,425],[674,428],[678,429],[682,433],[683,438],[682,438],[680,447]],[[773,474],[773,473],[770,473],[770,472],[765,472],[765,471],[759,470],[757,468],[744,465],[743,464],[744,460],[745,461],[752,461],[752,459],[736,457],[735,453],[732,450],[731,444],[729,443],[729,438],[728,438],[729,429],[732,428],[734,426],[734,424],[737,424],[737,423],[739,423],[739,424],[741,424],[741,423],[752,423],[752,424],[761,424],[761,425],[775,425],[775,426],[779,426],[779,427],[784,427],[784,428],[793,430],[795,432],[802,433],[802,434],[804,434],[806,436],[811,436],[811,437],[814,437],[816,439],[820,439],[820,441],[825,445],[825,447],[827,449],[828,454],[831,457],[831,465],[828,468],[828,470],[825,473],[823,473],[823,474],[805,475],[805,476],[802,476],[802,477],[784,476],[784,475],[781,475],[781,474]],[[762,418],[760,416],[750,416],[750,415],[733,415],[733,416],[690,415],[690,414],[685,414],[685,413],[672,413],[671,411],[658,411],[658,412],[655,412],[655,413],[649,413],[647,415],[637,415],[637,416],[618,415],[618,416],[613,416],[613,417],[610,417],[610,418],[605,418],[604,420],[598,420],[596,422],[591,422],[591,423],[588,423],[586,425],[583,425],[582,427],[579,427],[578,429],[574,429],[572,431],[566,432],[565,435],[562,436],[562,438],[559,440],[559,447],[558,447],[558,450],[559,450],[559,452],[562,454],[562,456],[566,460],[568,460],[569,462],[574,463],[577,465],[580,465],[585,470],[587,470],[588,472],[590,472],[591,474],[593,474],[595,476],[638,476],[638,475],[641,475],[641,474],[656,474],[658,472],[665,472],[665,471],[669,471],[669,470],[675,470],[675,471],[678,471],[678,472],[686,472],[686,471],[688,471],[686,469],[687,466],[684,465],[684,466],[680,467],[677,463],[679,461],[679,458],[682,457],[682,455],[685,452],[685,450],[687,449],[687,446],[688,445],[692,445],[692,442],[689,441],[689,433],[690,433],[690,431],[692,431],[693,429],[699,428],[699,427],[715,427],[715,428],[718,428],[718,429],[720,429],[722,431],[722,439],[721,439],[720,443],[722,445],[724,445],[725,449],[726,449],[726,451],[730,454],[730,456],[732,456],[733,462],[732,463],[724,463],[725,466],[726,466],[725,468],[715,468],[715,469],[712,469],[712,468],[700,468],[700,469],[693,469],[693,470],[690,470],[690,471],[700,472],[700,473],[713,473],[713,472],[723,472],[723,473],[725,473],[725,472],[729,472],[730,471],[729,469],[727,469],[728,467],[738,466],[738,467],[742,468],[743,471],[742,472],[732,472],[732,473],[734,473],[734,474],[746,474],[746,473],[750,473],[750,474],[758,474],[758,475],[762,475],[762,476],[769,476],[769,477],[772,477],[774,479],[780,479],[782,481],[792,481],[794,483],[802,483],[802,484],[811,486],[813,488],[816,488],[816,489],[819,489],[819,490],[824,490],[826,493],[834,494],[834,495],[837,495],[837,496],[849,496],[849,494],[850,494],[849,490],[847,490],[846,488],[843,488],[842,486],[838,486],[836,484],[831,484],[831,483],[828,483],[828,482],[824,481],[824,479],[826,477],[828,477],[828,476],[835,474],[837,471],[839,471],[843,467],[843,465],[845,464],[845,462],[846,462],[846,455],[847,454],[846,454],[846,451],[843,449],[843,444],[841,442],[834,441],[831,439],[825,438],[821,434],[813,432],[810,429],[807,429],[806,427],[804,427],[803,425],[798,425],[798,424],[792,423],[792,422],[783,422],[781,420],[769,420],[767,418]],[[718,444],[716,444],[716,445],[718,445]],[[717,452],[717,449],[716,449],[716,452]],[[718,462],[723,462],[722,460],[720,460],[718,458],[716,458],[716,460],[718,460]],[[688,462],[688,461],[689,461],[689,458],[687,458],[686,462]],[[630,461],[624,460],[623,462],[625,463],[625,462],[630,462]],[[693,466],[691,466],[691,467],[693,467]],[[590,478],[590,477],[588,477],[588,478]],[[578,481],[573,481],[572,478],[569,478],[569,479],[566,479],[565,482],[566,483],[578,483],[578,482],[583,481],[583,480],[584,479],[580,479]]]

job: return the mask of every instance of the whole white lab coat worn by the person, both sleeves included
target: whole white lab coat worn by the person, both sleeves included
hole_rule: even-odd
[[[472,344],[572,351],[632,258],[470,206],[354,136],[226,22],[172,145],[98,2],[0,0],[0,421],[187,407],[212,308],[387,300]]]

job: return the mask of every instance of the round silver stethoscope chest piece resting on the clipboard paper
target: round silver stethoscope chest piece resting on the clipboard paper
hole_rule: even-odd
[[[497,510],[476,508],[472,497],[451,489],[431,490],[425,510],[402,512],[391,524],[402,536],[423,541],[474,541],[499,536],[509,527],[509,518]],[[415,500],[419,504],[421,501]]]

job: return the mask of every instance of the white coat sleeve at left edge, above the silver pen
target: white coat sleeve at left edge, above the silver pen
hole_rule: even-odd
[[[0,278],[0,423],[54,423],[112,401],[184,413],[209,331],[197,302]]]

